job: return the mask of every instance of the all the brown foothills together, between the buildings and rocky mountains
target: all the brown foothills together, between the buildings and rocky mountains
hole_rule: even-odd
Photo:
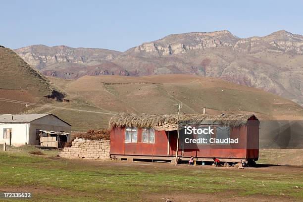
[[[303,107],[272,93],[188,74],[46,77],[0,47],[0,114],[53,113],[73,130],[107,128],[113,113],[253,113],[260,120],[303,120]],[[8,99],[8,100],[7,100]],[[30,102],[26,106],[25,102]],[[47,106],[46,106],[47,105]]]

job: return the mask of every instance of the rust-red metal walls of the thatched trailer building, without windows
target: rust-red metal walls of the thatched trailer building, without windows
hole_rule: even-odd
[[[213,135],[215,138],[216,134]],[[199,149],[183,150],[179,156],[217,158],[258,158],[258,122],[231,128],[230,138],[239,138],[237,145],[201,145]],[[142,129],[138,129],[138,143],[125,143],[125,128],[113,128],[110,136],[110,154],[174,156],[176,155],[177,131],[155,131],[154,144],[142,143]],[[169,141],[169,145],[168,145]]]

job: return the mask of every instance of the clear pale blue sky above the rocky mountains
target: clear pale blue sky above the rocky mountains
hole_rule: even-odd
[[[0,0],[0,45],[125,51],[169,34],[285,29],[303,35],[302,0]]]

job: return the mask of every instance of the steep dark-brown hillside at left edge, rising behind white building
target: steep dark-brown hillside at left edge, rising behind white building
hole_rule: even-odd
[[[45,103],[47,99],[44,96],[53,90],[57,89],[49,79],[30,67],[13,50],[0,48],[0,98]],[[0,101],[0,114],[23,111],[25,104]]]

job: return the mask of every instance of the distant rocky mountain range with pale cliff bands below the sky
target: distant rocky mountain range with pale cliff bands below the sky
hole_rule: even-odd
[[[250,38],[229,31],[173,34],[124,52],[44,45],[15,51],[52,77],[191,74],[263,89],[303,105],[303,36],[285,30]]]

